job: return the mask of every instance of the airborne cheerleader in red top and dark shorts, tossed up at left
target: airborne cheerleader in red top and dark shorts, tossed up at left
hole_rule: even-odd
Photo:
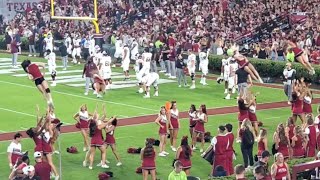
[[[53,107],[53,101],[51,97],[51,91],[48,86],[48,82],[44,79],[45,74],[45,64],[41,62],[31,63],[30,60],[24,60],[21,63],[23,70],[28,73],[30,80],[34,81],[38,90],[43,94],[47,103],[50,107]],[[44,72],[41,73],[40,69],[43,69]]]

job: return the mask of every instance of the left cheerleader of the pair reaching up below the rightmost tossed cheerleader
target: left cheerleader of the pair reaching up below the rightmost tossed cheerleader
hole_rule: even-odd
[[[294,87],[294,92],[292,92],[292,118],[293,121],[297,121],[297,117],[301,119],[302,124],[305,123],[305,115],[303,113],[303,99],[305,93],[301,90],[299,85]]]

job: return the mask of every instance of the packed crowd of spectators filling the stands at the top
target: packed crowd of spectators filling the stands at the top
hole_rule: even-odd
[[[284,39],[292,35],[301,49],[305,49],[312,62],[319,61],[320,26],[319,5],[316,0],[297,1],[98,1],[100,30],[105,41],[111,43],[113,33],[139,39],[143,47],[158,39],[163,41],[173,34],[174,46],[201,44],[212,47],[213,54],[226,52],[228,43],[243,43],[243,52],[249,57],[284,60]],[[77,10],[74,10],[75,8]],[[253,8],[254,7],[254,8]],[[87,1],[56,1],[55,13],[61,16],[92,17],[93,4]],[[290,19],[291,14],[304,17],[304,23],[291,20],[290,28],[278,22],[279,17]],[[49,28],[55,39],[66,32],[81,37],[93,33],[88,21],[50,20],[50,4],[43,1],[12,21],[1,18],[3,32],[23,34],[30,29],[39,34]],[[14,23],[16,22],[16,23]],[[8,27],[11,25],[11,29]],[[19,32],[19,33],[18,33]],[[249,34],[249,35],[248,35]],[[30,35],[29,35],[30,36]],[[246,41],[248,36],[253,41]],[[8,42],[10,38],[8,36]],[[36,38],[36,41],[41,38]],[[258,41],[257,41],[258,40]],[[191,46],[192,47],[192,46]]]

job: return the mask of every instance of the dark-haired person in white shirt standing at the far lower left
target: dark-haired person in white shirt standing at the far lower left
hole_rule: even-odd
[[[12,142],[9,144],[7,148],[10,169],[12,169],[16,165],[16,162],[18,161],[18,159],[23,155],[21,143],[20,143],[21,138],[22,138],[22,135],[20,133],[15,134],[14,139],[12,140]]]

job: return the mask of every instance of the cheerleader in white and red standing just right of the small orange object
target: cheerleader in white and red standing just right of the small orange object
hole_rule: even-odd
[[[172,151],[176,152],[176,142],[178,137],[178,132],[180,128],[179,122],[179,110],[177,109],[177,102],[171,101],[171,108],[169,113],[169,131],[170,131],[170,145]]]

